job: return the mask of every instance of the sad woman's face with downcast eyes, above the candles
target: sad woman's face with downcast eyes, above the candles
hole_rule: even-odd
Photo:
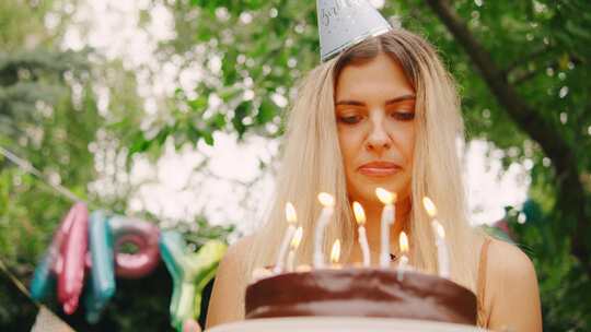
[[[347,189],[374,202],[375,188],[409,197],[415,146],[415,91],[403,69],[381,52],[346,66],[336,82],[335,110]]]

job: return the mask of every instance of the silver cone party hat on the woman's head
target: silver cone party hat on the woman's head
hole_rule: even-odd
[[[367,0],[317,0],[316,3],[323,62],[392,28]]]

